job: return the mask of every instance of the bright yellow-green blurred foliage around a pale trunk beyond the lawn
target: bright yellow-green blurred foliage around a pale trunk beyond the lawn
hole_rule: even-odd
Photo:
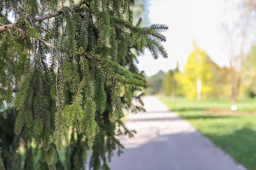
[[[202,99],[207,99],[227,96],[227,73],[227,68],[220,68],[204,50],[195,46],[184,65],[184,72],[175,77],[188,99],[197,98],[197,81],[200,79]]]

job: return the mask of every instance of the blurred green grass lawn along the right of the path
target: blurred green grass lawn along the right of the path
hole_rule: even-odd
[[[256,169],[256,100],[160,100],[248,170]],[[231,111],[231,105],[238,110]]]

